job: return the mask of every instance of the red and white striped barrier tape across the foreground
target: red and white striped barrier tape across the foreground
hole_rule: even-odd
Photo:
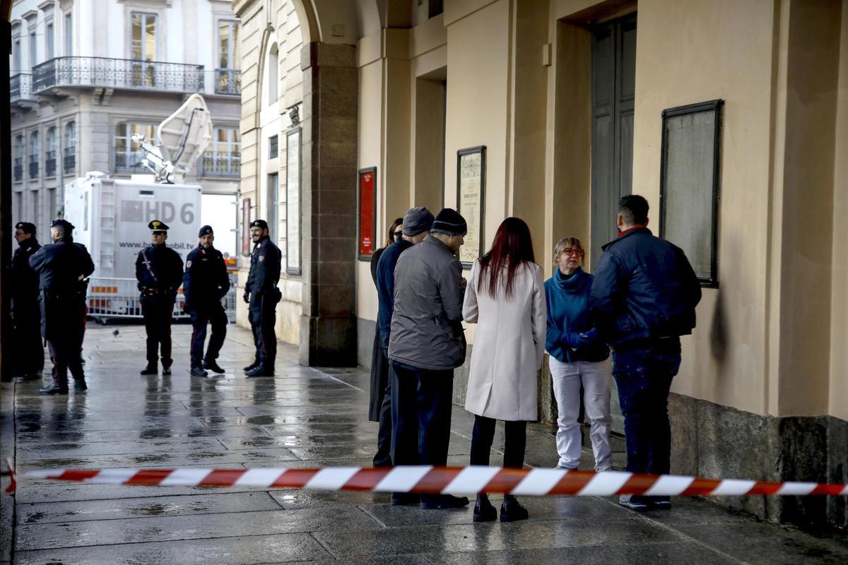
[[[505,493],[572,496],[741,496],[848,495],[848,485],[773,483],[739,479],[700,479],[679,475],[621,471],[569,471],[499,467],[395,468],[328,467],[315,469],[42,469],[19,474],[27,479],[57,479],[99,485],[257,486],[375,492]]]

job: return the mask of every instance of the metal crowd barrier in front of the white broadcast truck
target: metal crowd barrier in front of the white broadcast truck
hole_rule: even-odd
[[[222,299],[227,318],[236,319],[236,277],[230,275],[230,291]],[[104,279],[92,277],[88,281],[88,316],[105,322],[109,319],[141,319],[142,304],[139,302],[138,281],[135,279]],[[186,302],[182,288],[177,291],[174,303],[174,319],[188,319],[182,311]]]

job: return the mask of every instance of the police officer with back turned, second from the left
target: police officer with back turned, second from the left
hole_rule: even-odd
[[[42,304],[42,333],[53,361],[53,384],[42,394],[68,394],[68,370],[76,391],[85,391],[80,349],[86,323],[86,278],[94,272],[86,246],[74,243],[74,226],[64,219],[50,224],[53,243],[30,258],[39,274]]]

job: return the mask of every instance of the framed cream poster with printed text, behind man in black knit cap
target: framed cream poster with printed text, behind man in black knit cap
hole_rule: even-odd
[[[460,247],[463,268],[483,255],[483,219],[486,198],[486,147],[456,152],[456,211],[468,224],[466,242]]]

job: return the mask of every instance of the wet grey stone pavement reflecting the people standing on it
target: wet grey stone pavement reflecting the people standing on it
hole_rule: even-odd
[[[85,394],[39,396],[40,383],[3,383],[4,456],[14,446],[21,469],[371,464],[377,429],[366,418],[365,371],[300,367],[297,349],[281,344],[276,377],[245,379],[251,336],[228,330],[219,359],[226,374],[189,376],[190,328],[181,325],[174,374],[142,377],[142,328],[90,325]],[[454,407],[449,463],[467,463],[471,423]],[[527,464],[555,465],[552,432],[529,427]],[[502,429],[494,445],[503,445]],[[616,446],[622,465],[620,440]],[[500,463],[494,451],[492,464]],[[475,524],[471,507],[391,507],[387,494],[25,480],[14,498],[3,496],[0,563],[848,562],[840,538],[758,522],[703,499],[675,499],[671,511],[643,515],[598,497],[522,502],[527,522]]]

